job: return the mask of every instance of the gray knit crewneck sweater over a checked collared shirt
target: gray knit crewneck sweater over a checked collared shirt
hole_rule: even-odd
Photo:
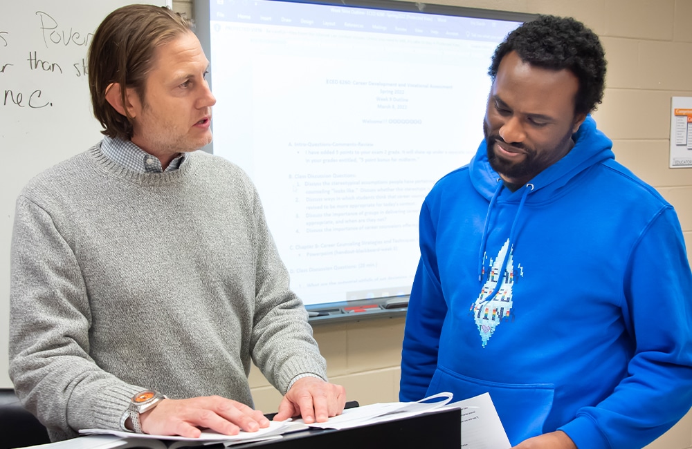
[[[220,157],[58,164],[17,199],[11,265],[10,377],[53,440],[118,429],[144,388],[251,405],[251,357],[282,394],[326,379],[257,191]]]

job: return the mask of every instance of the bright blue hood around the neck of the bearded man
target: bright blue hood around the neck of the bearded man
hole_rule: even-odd
[[[614,159],[612,153],[612,141],[596,128],[596,122],[589,115],[579,126],[579,130],[573,135],[574,147],[565,157],[555,162],[547,169],[538,173],[530,183],[533,186],[528,202],[537,202],[552,196],[557,189],[565,186],[574,176],[594,164],[603,160]],[[471,184],[487,200],[499,193],[498,179],[500,175],[495,172],[488,161],[488,152],[485,140],[478,146],[475,156],[469,164],[471,171]],[[520,201],[519,189],[516,201]],[[509,198],[508,198],[509,200]]]

